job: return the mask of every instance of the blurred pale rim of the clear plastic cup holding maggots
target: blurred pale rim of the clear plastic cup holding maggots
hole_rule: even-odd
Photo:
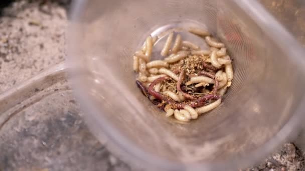
[[[267,31],[269,36],[274,35],[275,33],[281,33],[281,39],[287,40],[286,44],[291,44],[296,47],[293,50],[288,48],[288,52],[291,52],[293,55],[292,57],[295,58],[297,61],[296,63],[298,66],[301,66],[305,63],[305,60],[301,58],[300,54],[304,54],[304,50],[299,46],[299,43],[293,38],[293,36],[269,13],[267,12],[264,7],[255,0],[232,0],[237,6],[247,10],[247,13],[259,15],[258,18],[254,19],[255,22],[258,22],[260,26],[264,27],[264,31]],[[87,0],[74,0],[71,12],[70,12],[70,19],[71,22],[77,22],[79,18],[80,11],[82,11],[83,7]],[[252,17],[253,19],[253,17]],[[73,29],[69,26],[70,29]],[[272,29],[271,29],[272,28]],[[68,38],[69,38],[68,34]],[[278,37],[271,37],[276,39]],[[277,41],[275,41],[277,42]],[[285,44],[277,45],[284,46]],[[68,63],[72,63],[73,57],[68,52],[67,61]],[[71,70],[69,70],[69,74],[71,75]],[[305,72],[304,72],[305,73]],[[73,78],[71,79],[72,84],[75,82]],[[280,130],[269,139],[266,143],[264,143],[258,149],[252,151],[251,155],[242,156],[240,158],[230,158],[226,160],[222,160],[220,162],[202,162],[202,163],[179,163],[173,161],[167,161],[164,159],[159,158],[158,156],[151,155],[139,147],[134,145],[127,137],[122,135],[115,127],[113,127],[107,120],[103,119],[102,116],[97,118],[94,113],[100,112],[96,106],[93,105],[92,99],[90,99],[89,95],[87,95],[86,91],[84,90],[83,85],[73,86],[75,89],[75,95],[78,99],[86,98],[87,100],[82,100],[81,106],[88,112],[86,117],[91,117],[90,120],[94,121],[93,124],[98,124],[101,128],[101,131],[105,133],[107,140],[111,141],[111,147],[115,150],[113,151],[111,148],[110,151],[114,152],[118,156],[122,157],[123,159],[130,161],[132,163],[140,163],[140,165],[144,165],[146,168],[150,169],[162,169],[162,170],[231,170],[236,169],[238,166],[245,167],[249,164],[253,164],[253,162],[261,159],[264,156],[267,156],[273,149],[279,146],[288,136],[297,135],[296,128],[301,124],[302,120],[304,119],[303,110],[305,106],[302,106],[302,103],[305,103],[305,97],[302,97],[300,100],[295,112],[289,118],[289,120],[280,128]],[[89,110],[90,109],[90,110]],[[91,124],[88,124],[91,127]],[[93,131],[93,134],[100,138],[96,132]],[[101,140],[101,139],[99,139]]]

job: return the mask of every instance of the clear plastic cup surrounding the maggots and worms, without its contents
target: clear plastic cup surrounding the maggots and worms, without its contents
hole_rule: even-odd
[[[234,170],[268,154],[303,121],[304,50],[257,1],[74,3],[73,87],[92,131],[101,140],[106,135],[124,159],[151,170]],[[181,124],[136,87],[132,55],[147,35],[188,26],[206,28],[226,44],[235,77],[219,107]]]

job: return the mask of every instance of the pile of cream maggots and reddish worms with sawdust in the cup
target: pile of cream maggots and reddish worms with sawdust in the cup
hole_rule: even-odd
[[[180,121],[197,119],[221,103],[231,86],[233,69],[225,44],[202,29],[190,27],[189,32],[202,37],[208,49],[183,40],[177,33],[168,33],[161,50],[163,60],[151,60],[158,36],[148,36],[133,55],[136,84],[155,105]]]

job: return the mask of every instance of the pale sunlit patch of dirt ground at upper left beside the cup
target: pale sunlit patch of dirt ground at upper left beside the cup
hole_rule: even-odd
[[[21,0],[0,18],[0,92],[65,57],[67,14],[58,3]]]

